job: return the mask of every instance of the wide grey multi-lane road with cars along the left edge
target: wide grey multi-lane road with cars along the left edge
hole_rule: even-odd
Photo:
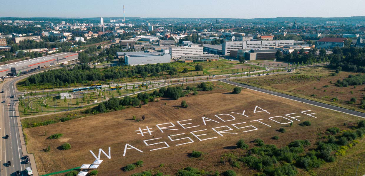
[[[15,175],[16,171],[23,171],[22,175],[26,176],[24,171],[26,167],[31,167],[30,164],[25,164],[23,160],[22,143],[20,137],[23,136],[19,133],[20,121],[18,121],[15,107],[18,103],[18,97],[16,96],[15,88],[13,86],[16,79],[5,81],[0,84],[4,93],[1,93],[1,101],[5,100],[5,103],[1,103],[1,175]],[[10,98],[14,95],[14,98]],[[5,135],[9,135],[9,139],[4,139]],[[11,166],[7,166],[5,163],[11,161]]]

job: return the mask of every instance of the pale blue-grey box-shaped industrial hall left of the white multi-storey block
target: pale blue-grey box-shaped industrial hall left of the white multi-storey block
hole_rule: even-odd
[[[127,65],[145,65],[157,63],[170,63],[170,56],[162,52],[134,52],[125,53],[124,61]]]

